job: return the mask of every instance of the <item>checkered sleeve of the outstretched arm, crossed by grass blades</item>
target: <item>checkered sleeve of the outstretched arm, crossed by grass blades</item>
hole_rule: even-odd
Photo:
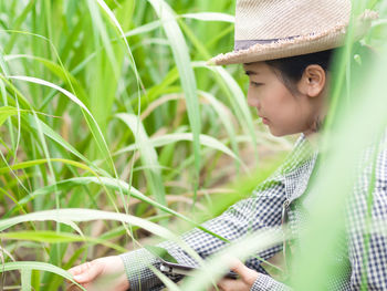
[[[237,241],[249,232],[266,227],[279,227],[284,201],[284,184],[281,175],[274,174],[262,183],[250,198],[234,204],[221,216],[202,224],[202,227],[230,241]],[[279,228],[278,231],[281,231],[281,229]],[[227,245],[223,240],[197,228],[182,235],[182,239],[203,259]],[[158,246],[167,249],[179,263],[197,266],[197,262],[175,242],[165,241]],[[265,260],[281,249],[282,246],[274,246],[258,253],[258,257]],[[139,249],[119,254],[119,257],[124,261],[130,290],[160,290],[163,288],[160,280],[149,269],[149,266],[158,269],[160,262],[147,250]],[[260,259],[251,257],[245,264],[251,269],[265,273],[260,266]],[[181,279],[181,277],[167,276],[174,281]]]

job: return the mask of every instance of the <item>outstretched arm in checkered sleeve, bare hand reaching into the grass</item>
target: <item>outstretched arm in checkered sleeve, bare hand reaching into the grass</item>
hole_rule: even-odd
[[[304,136],[301,135],[295,148],[287,156],[285,163],[282,164],[274,175],[268,178],[264,183],[260,184],[251,198],[242,200],[239,204],[230,207],[230,209],[228,209],[222,216],[205,224],[205,227],[218,232],[228,240],[238,240],[250,231],[254,231],[263,227],[279,226],[281,224],[282,206],[285,200],[283,173],[297,167],[300,162],[310,156],[310,150],[307,149],[308,144],[305,141],[306,139]],[[219,226],[223,226],[223,228],[219,228]],[[279,228],[276,229],[281,231]],[[208,236],[206,232],[197,229],[189,231],[184,236],[184,238],[188,245],[194,247],[203,258],[224,247],[224,242],[222,240]],[[180,263],[192,266],[196,264],[196,262],[178,246],[170,242],[164,242],[161,246],[168,248],[170,252],[174,252],[174,256],[176,256],[176,259]],[[259,257],[266,260],[281,249],[282,246],[269,248],[259,253]],[[252,271],[257,270],[265,273],[260,264],[261,260],[257,258],[247,260],[247,266],[251,268]],[[105,280],[105,277],[112,278],[111,271],[113,270],[115,271],[113,277],[115,283],[111,283],[109,287],[107,289],[105,288],[104,290],[127,290],[129,287],[130,290],[159,290],[163,288],[163,284],[148,268],[150,266],[158,269],[159,261],[146,250],[139,249],[123,253],[119,257],[113,256],[113,258],[100,258],[90,263],[87,262],[74,267],[69,271],[76,274],[76,278],[74,277],[74,279],[84,287],[98,284],[100,277],[101,280]],[[121,274],[124,276],[123,280],[121,279]],[[117,276],[119,276],[119,278]],[[180,278],[176,277],[171,279],[177,281]],[[261,277],[261,279],[263,280],[264,278]],[[270,278],[266,277],[266,279],[269,280]],[[268,287],[270,287],[271,284],[269,284],[268,280],[264,282]],[[257,282],[258,285],[259,282],[260,281]],[[263,282],[261,282],[261,284]],[[119,284],[119,289],[117,289],[116,284]],[[249,284],[249,287],[251,285],[252,283]]]

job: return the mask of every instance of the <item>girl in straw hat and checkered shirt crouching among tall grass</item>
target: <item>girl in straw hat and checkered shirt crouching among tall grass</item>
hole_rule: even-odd
[[[274,136],[301,133],[296,145],[284,164],[250,198],[239,201],[221,216],[207,221],[203,227],[227,238],[237,240],[251,230],[278,228],[285,216],[293,235],[300,231],[302,217],[300,201],[306,193],[308,179],[318,156],[317,133],[327,114],[331,62],[334,49],[343,45],[349,23],[351,1],[346,0],[238,0],[236,13],[234,51],[213,58],[213,64],[241,63],[250,79],[248,103],[257,108],[263,123]],[[355,38],[360,39],[377,15],[366,11],[355,22]],[[387,153],[378,155],[376,178],[386,181]],[[386,189],[376,208],[386,205]],[[357,194],[357,195],[362,195]],[[364,205],[363,205],[364,206]],[[357,208],[356,208],[357,209]],[[362,209],[362,205],[359,206]],[[355,211],[356,215],[356,211]],[[386,220],[386,214],[377,214]],[[355,219],[356,220],[356,219]],[[198,229],[182,236],[184,240],[202,258],[224,247],[224,242]],[[342,253],[341,274],[332,278],[330,290],[360,289],[364,267],[364,242],[358,236],[349,236],[348,253]],[[387,239],[370,239],[368,289],[387,290]],[[373,245],[374,243],[374,245]],[[163,242],[182,264],[195,266],[179,246]],[[259,257],[273,259],[283,250],[274,246],[261,251]],[[159,266],[156,257],[145,249],[121,256],[100,258],[74,267],[70,272],[87,290],[100,290],[98,279],[115,274],[116,279],[103,290],[159,290],[160,280],[148,266]],[[251,258],[243,264],[236,261],[232,270],[240,279],[222,279],[221,290],[289,290],[275,281],[262,267],[262,261]],[[118,274],[118,276],[117,276]],[[169,276],[169,274],[167,274]],[[171,277],[174,280],[180,278]]]

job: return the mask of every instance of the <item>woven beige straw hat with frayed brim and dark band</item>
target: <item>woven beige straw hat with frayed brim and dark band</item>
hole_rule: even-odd
[[[341,46],[351,10],[351,0],[237,0],[234,50],[209,63],[251,63]],[[354,39],[377,18],[370,10],[355,18]]]

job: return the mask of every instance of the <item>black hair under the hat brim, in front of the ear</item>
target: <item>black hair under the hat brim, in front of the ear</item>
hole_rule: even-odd
[[[265,64],[279,72],[279,77],[293,95],[299,92],[296,83],[301,80],[305,69],[311,64],[318,64],[326,72],[331,69],[335,49],[316,53],[295,55],[284,59],[265,61]]]

